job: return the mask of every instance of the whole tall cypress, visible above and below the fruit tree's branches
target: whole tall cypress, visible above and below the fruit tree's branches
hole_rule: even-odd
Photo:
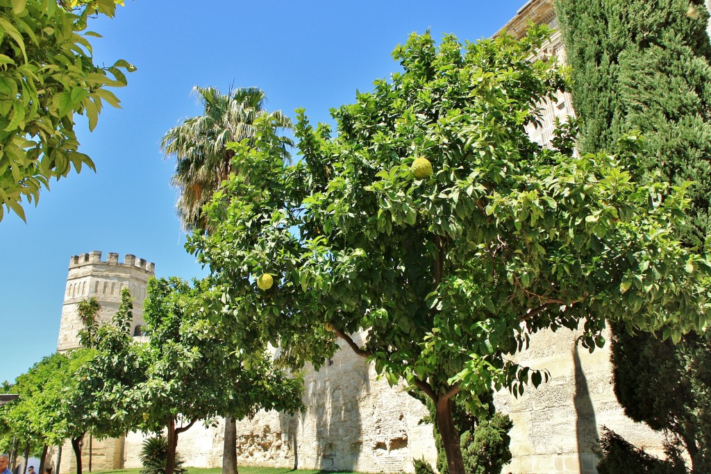
[[[703,0],[555,0],[582,119],[579,149],[613,149],[629,131],[645,136],[640,177],[694,181],[681,237],[711,235],[711,44]],[[626,414],[665,431],[668,453],[689,453],[711,472],[710,333],[678,345],[613,328],[615,392]],[[678,458],[679,459],[679,458]]]

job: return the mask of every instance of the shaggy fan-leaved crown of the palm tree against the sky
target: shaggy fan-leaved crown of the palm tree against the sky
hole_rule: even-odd
[[[291,130],[292,121],[280,111],[267,112],[267,97],[257,87],[230,89],[222,94],[215,87],[193,87],[203,103],[200,117],[185,119],[163,136],[161,151],[175,156],[176,170],[171,185],[178,190],[176,210],[184,230],[205,231],[202,208],[230,175],[231,141],[250,139],[252,124],[267,114],[279,129]],[[284,151],[292,141],[282,138]]]

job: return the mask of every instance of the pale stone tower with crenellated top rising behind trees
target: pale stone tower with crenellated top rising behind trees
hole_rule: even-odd
[[[99,323],[108,323],[119,308],[124,288],[128,288],[134,298],[132,334],[141,336],[146,284],[154,275],[155,264],[137,259],[132,254],[126,254],[123,263],[119,263],[119,254],[112,252],[109,252],[106,262],[102,262],[101,252],[97,251],[71,257],[57,349],[69,350],[79,346],[78,334],[82,322],[77,306],[80,301],[95,297],[101,305]]]

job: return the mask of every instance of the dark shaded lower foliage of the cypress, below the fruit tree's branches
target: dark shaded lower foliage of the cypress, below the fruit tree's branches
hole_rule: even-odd
[[[614,389],[625,414],[665,433],[668,458],[693,472],[711,470],[711,335],[689,333],[677,345],[654,335],[615,330]]]

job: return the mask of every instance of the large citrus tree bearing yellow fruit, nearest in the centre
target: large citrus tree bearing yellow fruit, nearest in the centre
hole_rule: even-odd
[[[576,157],[565,133],[560,150],[525,133],[564,87],[528,60],[543,38],[412,36],[402,72],[333,111],[336,134],[299,113],[292,166],[262,120],[188,242],[235,338],[257,328],[296,365],[341,338],[432,399],[450,474],[464,473],[452,397],[540,384],[509,356],[530,333],[581,325],[592,350],[606,318],[679,340],[709,316],[708,259],[673,237],[685,190],[631,178],[635,136]]]

